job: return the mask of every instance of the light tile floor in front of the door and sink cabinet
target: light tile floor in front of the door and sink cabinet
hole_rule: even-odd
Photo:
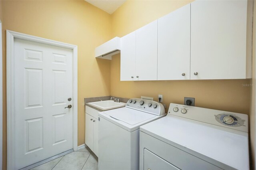
[[[86,146],[30,170],[98,170],[98,158]]]

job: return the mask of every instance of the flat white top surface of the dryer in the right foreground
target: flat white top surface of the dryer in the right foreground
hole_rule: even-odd
[[[140,131],[222,169],[249,169],[247,132],[169,114],[141,126]]]

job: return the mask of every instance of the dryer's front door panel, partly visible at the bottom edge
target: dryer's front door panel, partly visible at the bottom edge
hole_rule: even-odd
[[[144,170],[180,170],[144,148]]]

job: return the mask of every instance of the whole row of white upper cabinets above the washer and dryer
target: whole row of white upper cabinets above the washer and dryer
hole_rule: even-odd
[[[121,38],[121,81],[251,74],[252,1],[196,0]]]

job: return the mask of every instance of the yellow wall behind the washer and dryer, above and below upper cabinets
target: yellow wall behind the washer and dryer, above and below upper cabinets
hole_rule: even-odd
[[[112,14],[112,37],[124,36],[192,1],[128,0]],[[149,96],[163,103],[183,103],[184,97],[195,97],[196,106],[249,114],[250,87],[244,80],[195,81],[120,81],[120,54],[111,61],[111,95],[120,97]],[[167,111],[167,110],[166,110]]]

